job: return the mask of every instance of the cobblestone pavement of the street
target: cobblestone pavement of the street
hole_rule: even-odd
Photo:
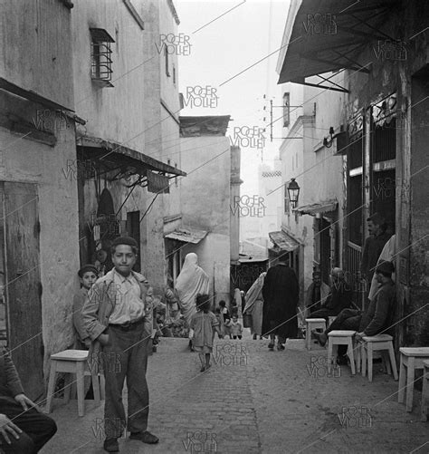
[[[396,401],[397,382],[378,364],[372,383],[346,366],[327,377],[325,349],[309,353],[303,341],[288,341],[285,351],[268,352],[267,343],[249,333],[242,341],[216,341],[212,368],[199,372],[185,339],[162,339],[148,365],[148,429],[160,442],[121,439],[120,452],[429,452],[420,392],[407,413]],[[43,454],[104,452],[102,407],[86,407],[79,418],[76,401],[56,401],[59,430]]]

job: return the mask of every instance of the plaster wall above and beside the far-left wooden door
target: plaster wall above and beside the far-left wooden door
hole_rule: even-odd
[[[73,109],[70,15],[56,0],[3,2],[0,72],[10,82]],[[38,119],[46,106],[9,95],[0,104],[2,113],[43,129]],[[29,140],[26,133],[0,128],[0,179],[37,185],[45,376],[50,354],[71,344],[79,269],[77,185],[72,176],[66,178],[67,162],[76,156],[74,122],[64,120],[62,127],[54,122],[52,132],[57,142],[51,147]]]

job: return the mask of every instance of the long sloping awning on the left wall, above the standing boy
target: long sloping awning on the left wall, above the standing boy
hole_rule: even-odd
[[[91,161],[101,174],[117,171],[111,180],[138,175],[138,179],[129,188],[136,185],[146,187],[148,184],[157,187],[161,184],[161,179],[167,181],[177,176],[186,177],[186,172],[120,143],[82,136],[77,140],[77,145],[78,160],[81,162]]]

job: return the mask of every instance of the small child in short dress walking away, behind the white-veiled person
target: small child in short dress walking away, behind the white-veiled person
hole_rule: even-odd
[[[222,336],[219,322],[210,311],[209,295],[196,295],[196,314],[192,315],[189,326],[194,331],[193,345],[195,352],[199,353],[201,372],[205,372],[211,367],[210,353],[213,351],[215,332]]]

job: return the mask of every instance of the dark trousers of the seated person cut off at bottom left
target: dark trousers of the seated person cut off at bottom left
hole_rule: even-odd
[[[39,413],[34,408],[24,411],[23,407],[13,397],[0,397],[0,413],[3,413],[18,426],[23,433],[16,440],[12,434],[8,434],[12,444],[6,443],[0,435],[0,452],[6,454],[35,454],[45,445],[57,431],[55,421],[49,416]]]

